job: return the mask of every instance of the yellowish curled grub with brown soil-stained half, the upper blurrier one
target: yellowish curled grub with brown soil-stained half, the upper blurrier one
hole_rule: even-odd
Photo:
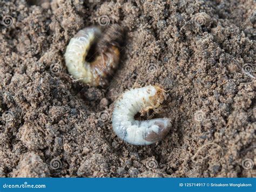
[[[102,31],[98,27],[87,27],[70,40],[65,52],[69,73],[90,86],[104,86],[107,75],[111,74],[119,61],[119,48],[113,39],[110,42],[100,41],[96,58],[91,62],[86,61],[89,49],[101,38]]]

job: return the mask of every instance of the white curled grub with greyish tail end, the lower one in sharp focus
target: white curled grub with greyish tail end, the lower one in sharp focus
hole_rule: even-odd
[[[144,114],[158,108],[165,99],[165,91],[158,86],[126,91],[114,104],[113,131],[120,139],[133,145],[150,145],[163,139],[171,128],[169,118],[136,120],[134,116],[137,112]]]

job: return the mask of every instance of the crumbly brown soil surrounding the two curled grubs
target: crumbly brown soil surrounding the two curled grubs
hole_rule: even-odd
[[[255,177],[253,11],[246,0],[1,1],[0,176]],[[102,19],[123,29],[121,58],[106,87],[89,87],[64,53]],[[124,143],[113,103],[149,84],[167,90],[151,114],[171,131]]]

